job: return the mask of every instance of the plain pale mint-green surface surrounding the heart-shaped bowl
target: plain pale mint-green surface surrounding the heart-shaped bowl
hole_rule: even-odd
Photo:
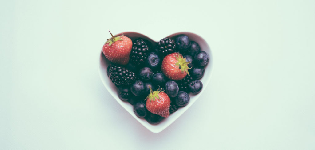
[[[315,149],[315,1],[2,1],[0,149]],[[201,35],[215,70],[154,134],[106,91],[113,34]]]

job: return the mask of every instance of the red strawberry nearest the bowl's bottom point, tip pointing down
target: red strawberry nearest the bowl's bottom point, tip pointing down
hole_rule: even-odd
[[[153,114],[169,117],[169,106],[171,104],[169,96],[163,91],[152,91],[151,87],[150,90],[150,94],[146,97],[146,109]]]

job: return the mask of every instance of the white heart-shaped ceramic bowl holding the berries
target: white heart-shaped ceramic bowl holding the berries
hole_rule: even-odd
[[[145,39],[149,42],[152,43],[152,47],[156,47],[157,42],[148,38],[147,36],[140,34],[140,33],[136,33],[136,32],[123,32],[120,34],[116,34],[116,35],[121,35],[124,34],[125,36],[129,37],[132,41],[134,41],[135,39],[138,38],[142,38]],[[201,82],[203,83],[203,89],[202,91],[197,94],[194,95],[192,93],[189,94],[190,96],[190,102],[188,103],[188,105],[186,105],[185,107],[180,107],[177,111],[175,111],[174,113],[172,113],[171,115],[169,115],[168,118],[164,118],[162,122],[160,122],[157,125],[152,125],[150,123],[148,123],[144,118],[139,118],[138,116],[135,115],[134,111],[133,111],[133,106],[131,104],[129,104],[129,102],[127,101],[122,101],[118,98],[117,95],[117,87],[112,83],[112,81],[108,78],[107,76],[107,67],[110,64],[110,61],[108,59],[106,59],[106,57],[104,56],[104,54],[100,53],[100,66],[99,66],[99,74],[100,74],[100,79],[102,80],[104,86],[106,87],[106,89],[108,90],[108,92],[114,97],[114,99],[121,105],[123,106],[123,108],[125,108],[130,114],[131,116],[133,116],[136,120],[138,120],[144,127],[146,127],[148,130],[150,130],[153,133],[158,133],[163,131],[166,127],[168,127],[170,124],[172,124],[180,115],[182,115],[190,106],[192,106],[192,104],[197,101],[197,99],[199,98],[200,95],[202,95],[203,91],[207,90],[207,85],[210,81],[212,72],[213,72],[213,68],[214,68],[214,63],[213,63],[213,56],[212,53],[210,51],[210,47],[207,44],[207,42],[200,37],[197,34],[194,33],[190,33],[190,32],[179,32],[179,33],[175,33],[172,35],[167,36],[167,38],[173,38],[179,34],[185,34],[189,37],[189,39],[191,41],[195,41],[200,45],[201,50],[207,52],[209,54],[209,63],[207,66],[205,66],[205,72],[204,72],[204,76],[201,80]],[[162,39],[162,38],[161,38]]]

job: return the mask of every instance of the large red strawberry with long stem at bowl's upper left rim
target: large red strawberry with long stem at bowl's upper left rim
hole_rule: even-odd
[[[108,31],[109,32],[109,31]],[[129,56],[132,49],[132,41],[124,35],[113,36],[107,39],[103,46],[103,54],[105,57],[116,64],[126,65],[129,62]]]

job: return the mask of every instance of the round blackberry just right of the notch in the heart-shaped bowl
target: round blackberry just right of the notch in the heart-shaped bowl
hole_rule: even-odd
[[[157,51],[160,55],[166,56],[174,53],[176,48],[175,41],[172,39],[164,38],[157,43]]]

